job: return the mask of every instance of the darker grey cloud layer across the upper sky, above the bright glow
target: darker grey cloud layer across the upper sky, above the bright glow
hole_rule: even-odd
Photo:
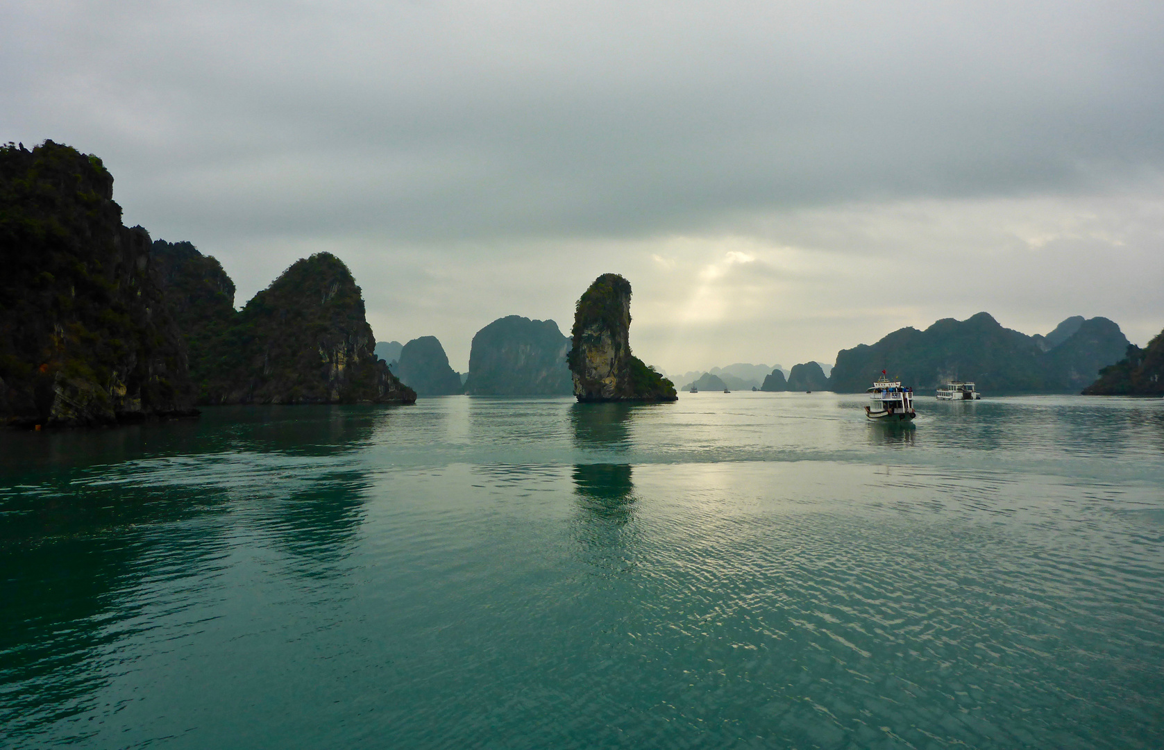
[[[212,234],[644,236],[1159,170],[1161,7],[1015,5],[24,3],[0,125]]]

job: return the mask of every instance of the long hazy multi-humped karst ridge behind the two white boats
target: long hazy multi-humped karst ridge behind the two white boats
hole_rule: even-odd
[[[1051,346],[1055,341],[1058,345]],[[843,349],[829,382],[838,392],[860,392],[885,369],[917,390],[957,378],[973,381],[985,394],[1069,394],[1094,380],[1127,347],[1120,327],[1107,318],[1069,318],[1046,337],[1029,337],[980,312],[966,320],[938,320],[925,331],[901,328],[872,346]]]

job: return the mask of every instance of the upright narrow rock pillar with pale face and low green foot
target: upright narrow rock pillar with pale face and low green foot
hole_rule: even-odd
[[[675,401],[675,385],[631,354],[631,283],[603,274],[579,299],[567,361],[583,402]]]

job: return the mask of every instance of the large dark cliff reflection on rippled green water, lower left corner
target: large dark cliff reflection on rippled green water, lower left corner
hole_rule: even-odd
[[[205,586],[223,569],[227,540],[205,522],[225,510],[225,495],[77,482],[68,494],[27,498],[35,511],[3,503],[0,744],[5,731],[100,708],[111,651],[157,603],[151,585],[180,592],[184,581]],[[59,738],[95,730],[73,723]]]

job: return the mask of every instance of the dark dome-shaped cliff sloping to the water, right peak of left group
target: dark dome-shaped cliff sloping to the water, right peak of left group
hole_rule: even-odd
[[[211,403],[412,403],[372,352],[360,286],[340,259],[294,262],[254,296],[223,337]]]

